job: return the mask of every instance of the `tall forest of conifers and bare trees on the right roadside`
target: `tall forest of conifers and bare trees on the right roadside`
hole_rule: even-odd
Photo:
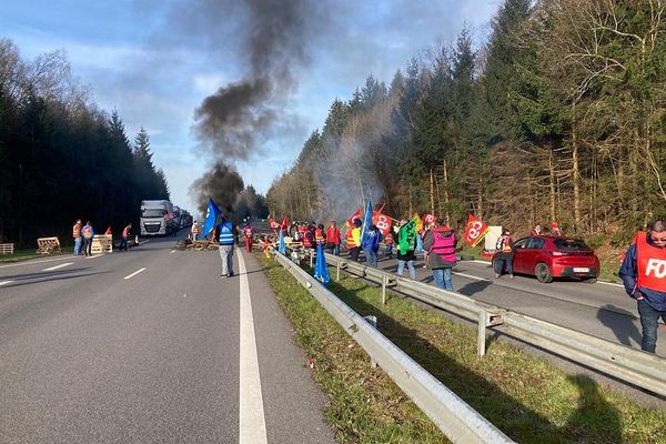
[[[487,41],[464,29],[336,99],[274,180],[271,213],[341,220],[371,199],[394,218],[558,221],[619,244],[666,213],[665,12],[506,0]]]

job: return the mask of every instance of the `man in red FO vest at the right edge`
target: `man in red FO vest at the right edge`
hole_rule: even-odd
[[[617,273],[627,294],[637,301],[643,340],[640,349],[655,353],[659,317],[666,323],[666,222],[636,233]]]

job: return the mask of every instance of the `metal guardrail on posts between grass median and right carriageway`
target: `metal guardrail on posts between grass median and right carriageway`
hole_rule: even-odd
[[[486,327],[558,354],[628,384],[666,396],[666,359],[549,322],[475,301],[460,293],[396,276],[345,258],[326,254],[329,265],[364,276],[386,287],[478,323],[478,353],[485,353]]]

